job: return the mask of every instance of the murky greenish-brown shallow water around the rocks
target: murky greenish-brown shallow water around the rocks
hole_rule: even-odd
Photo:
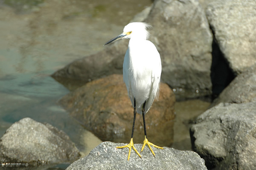
[[[49,75],[103,49],[151,0],[28,2],[0,0],[0,136],[15,121],[30,117],[64,130],[87,155],[101,141],[58,106],[69,90]],[[174,147],[191,147],[188,121],[208,106],[198,100],[177,102]]]

